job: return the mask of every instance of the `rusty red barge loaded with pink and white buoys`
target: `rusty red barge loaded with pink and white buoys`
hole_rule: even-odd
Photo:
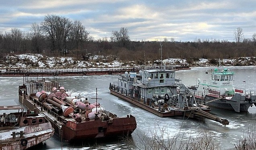
[[[19,101],[47,116],[55,133],[67,142],[129,136],[136,129],[135,117],[117,117],[98,102],[73,96],[57,81],[26,81],[19,86]]]

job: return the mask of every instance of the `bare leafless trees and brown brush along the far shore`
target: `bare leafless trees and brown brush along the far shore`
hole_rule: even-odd
[[[223,59],[253,57],[256,41],[227,42],[196,40],[195,42],[131,41],[127,28],[112,31],[109,38],[94,39],[78,20],[47,15],[40,24],[32,24],[30,32],[12,28],[0,33],[0,54],[36,53],[47,56],[70,56],[88,59],[88,54],[116,56],[114,59],[144,63],[166,58]],[[162,52],[161,52],[162,45]],[[112,57],[113,58],[113,57]]]

